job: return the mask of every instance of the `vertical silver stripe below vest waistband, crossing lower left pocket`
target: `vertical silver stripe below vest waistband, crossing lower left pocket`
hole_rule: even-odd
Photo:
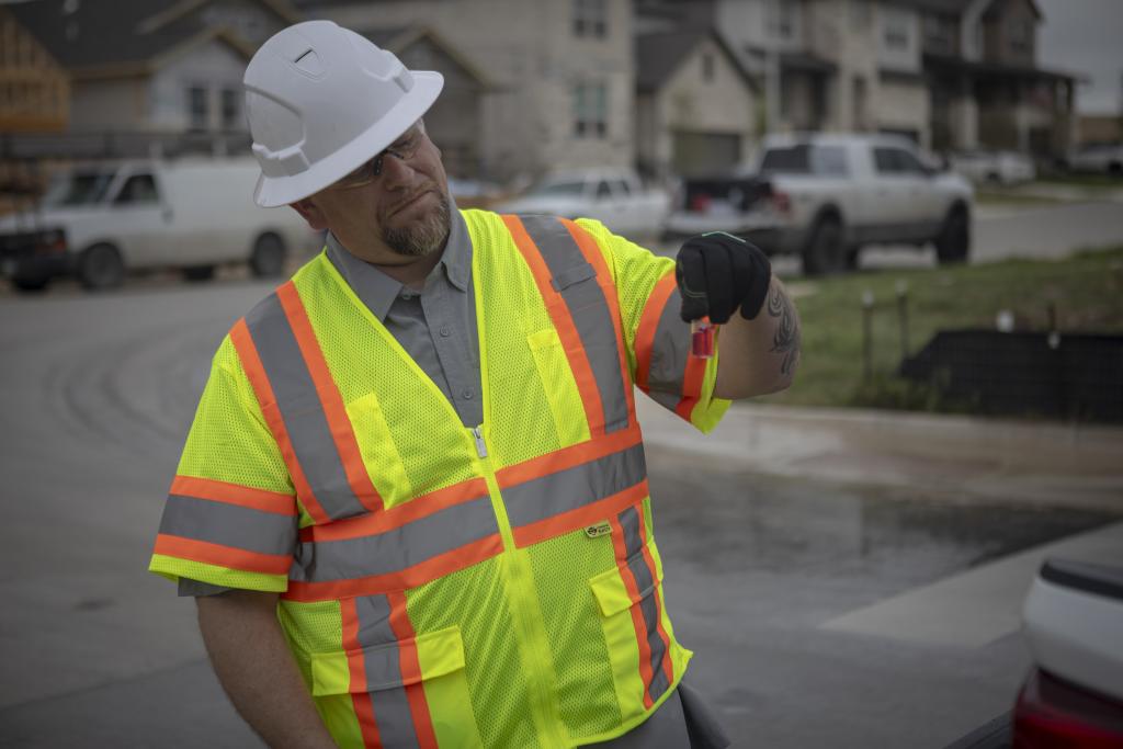
[[[402,685],[400,648],[390,625],[390,602],[384,595],[362,596],[355,599],[355,611],[366,688],[371,694],[382,746],[420,746],[410,702]]]

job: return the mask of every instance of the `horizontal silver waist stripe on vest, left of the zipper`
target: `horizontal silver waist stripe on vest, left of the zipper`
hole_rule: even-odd
[[[323,583],[387,575],[499,533],[485,495],[373,536],[339,541],[303,541],[289,578]]]

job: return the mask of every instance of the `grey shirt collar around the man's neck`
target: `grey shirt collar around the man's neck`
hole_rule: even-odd
[[[429,274],[426,283],[430,283],[437,268],[444,268],[444,275],[448,282],[463,292],[468,290],[468,281],[472,277],[472,239],[468,236],[467,225],[464,217],[457,210],[456,203],[449,198],[449,231],[448,243],[441,254],[437,266]],[[358,295],[364,304],[369,308],[374,317],[385,322],[386,314],[394,300],[402,292],[403,284],[391,278],[378,270],[377,266],[360,261],[351,255],[339,244],[339,240],[329,231],[326,238],[328,259],[339,274],[347,281],[347,284]]]

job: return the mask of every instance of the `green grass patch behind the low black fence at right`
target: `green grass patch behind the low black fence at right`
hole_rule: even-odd
[[[907,287],[910,354],[938,330],[993,329],[999,310],[1019,330],[1047,330],[1054,305],[1065,332],[1123,332],[1123,245],[1063,261],[856,273],[793,282],[803,330],[800,371],[784,393],[761,402],[958,411],[928,389],[895,376],[901,363],[898,284]],[[873,372],[865,382],[862,293],[874,294]]]

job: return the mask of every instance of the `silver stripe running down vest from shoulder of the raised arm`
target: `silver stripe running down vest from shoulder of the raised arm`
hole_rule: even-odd
[[[628,399],[624,396],[623,373],[620,369],[620,349],[609,302],[595,281],[595,271],[585,261],[576,240],[562,221],[547,216],[526,216],[520,219],[554,276],[554,287],[569,308],[569,316],[577,328],[588,365],[593,369],[596,389],[601,393],[604,431],[627,428]]]

